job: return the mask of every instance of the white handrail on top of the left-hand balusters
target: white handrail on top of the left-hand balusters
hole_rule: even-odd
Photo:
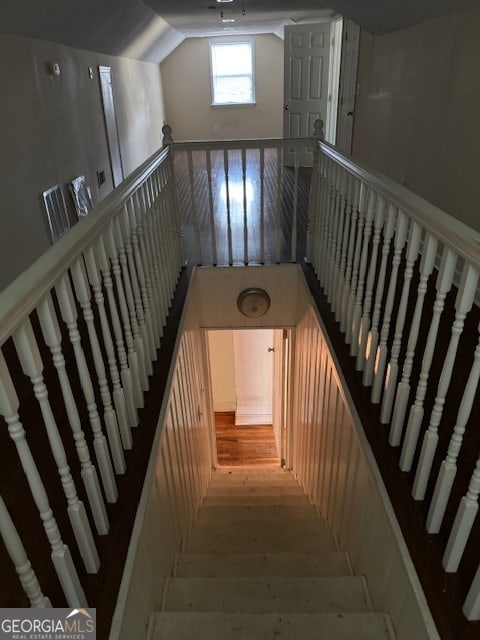
[[[0,293],[0,346],[35,309],[47,291],[53,288],[64,271],[106,228],[118,208],[136,191],[145,177],[170,154],[169,147],[152,154],[88,216],[79,220],[68,233]]]

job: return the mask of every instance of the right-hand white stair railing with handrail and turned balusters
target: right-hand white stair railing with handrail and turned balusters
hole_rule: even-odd
[[[429,501],[427,531],[448,528],[443,563],[456,571],[480,493],[480,342],[462,336],[466,322],[476,333],[480,319],[480,233],[321,141],[308,233],[307,259],[389,444],[400,448],[400,469],[412,474],[413,499]],[[453,376],[463,397],[449,393]],[[459,465],[471,475],[466,493],[456,484]],[[480,618],[480,569],[464,613]]]

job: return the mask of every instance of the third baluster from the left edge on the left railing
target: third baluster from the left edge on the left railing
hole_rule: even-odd
[[[67,499],[67,512],[72,525],[75,540],[88,573],[97,573],[100,567],[95,542],[93,541],[90,523],[83,503],[78,499],[77,488],[70,473],[67,454],[48,399],[48,390],[43,378],[43,362],[33,334],[32,325],[27,318],[22,326],[13,334],[13,342],[23,373],[30,378],[35,398],[40,406],[43,422],[47,430],[50,449],[62,481],[62,488]]]

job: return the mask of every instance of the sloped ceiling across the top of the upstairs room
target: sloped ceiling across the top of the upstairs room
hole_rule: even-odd
[[[477,4],[478,0],[0,0],[0,33],[160,62],[188,37],[282,37],[285,24],[334,15],[383,34]],[[235,22],[222,22],[221,7],[224,19]]]

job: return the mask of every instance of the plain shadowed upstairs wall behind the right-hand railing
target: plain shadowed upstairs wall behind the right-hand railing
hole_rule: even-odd
[[[480,230],[480,9],[362,33],[353,156]]]

